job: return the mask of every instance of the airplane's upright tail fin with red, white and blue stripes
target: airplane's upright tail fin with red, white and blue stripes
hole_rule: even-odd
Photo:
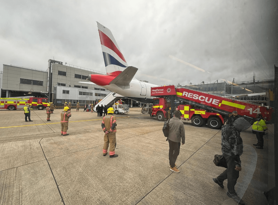
[[[127,62],[111,31],[100,23],[97,24],[106,73],[117,76],[128,67]]]

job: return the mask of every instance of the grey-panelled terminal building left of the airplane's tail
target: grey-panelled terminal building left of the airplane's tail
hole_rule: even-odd
[[[89,74],[105,74],[49,60],[47,71],[3,64],[1,97],[46,97],[56,106],[65,102],[95,104],[109,90],[86,80]]]

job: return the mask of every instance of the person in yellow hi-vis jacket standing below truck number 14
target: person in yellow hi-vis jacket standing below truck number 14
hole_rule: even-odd
[[[266,121],[261,114],[256,115],[256,121],[252,125],[252,133],[256,134],[257,137],[257,144],[253,144],[257,146],[257,149],[264,149],[264,138],[265,131],[267,130]]]

